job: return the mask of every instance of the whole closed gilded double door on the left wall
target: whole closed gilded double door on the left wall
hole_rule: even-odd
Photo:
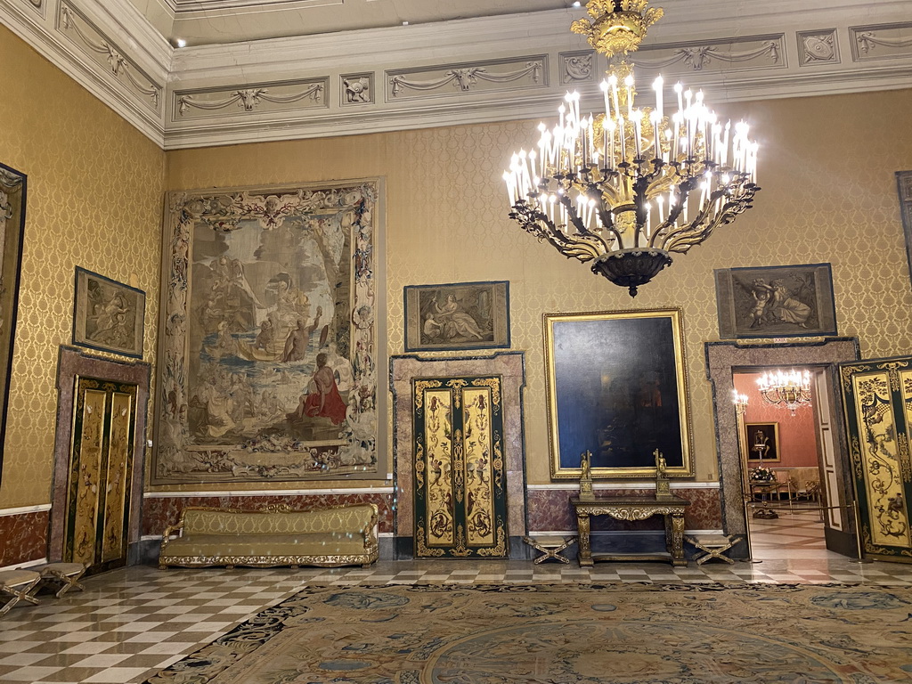
[[[127,563],[137,386],[76,383],[64,560],[101,572]]]

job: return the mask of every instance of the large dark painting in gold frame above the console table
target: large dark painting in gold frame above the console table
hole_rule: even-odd
[[[545,314],[551,476],[693,475],[679,309]]]

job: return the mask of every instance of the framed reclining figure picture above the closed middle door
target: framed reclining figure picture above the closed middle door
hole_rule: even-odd
[[[405,287],[406,351],[510,347],[510,284]]]

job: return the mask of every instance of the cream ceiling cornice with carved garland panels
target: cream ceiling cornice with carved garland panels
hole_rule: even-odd
[[[569,32],[584,9],[174,50],[130,0],[36,1],[0,0],[0,21],[164,149],[551,119],[568,88],[595,104],[606,68]],[[848,0],[663,5],[637,70],[713,103],[912,83],[912,0],[869,3],[863,24]],[[57,25],[65,7],[84,36]]]

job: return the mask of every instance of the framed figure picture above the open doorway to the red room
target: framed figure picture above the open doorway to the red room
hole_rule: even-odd
[[[715,271],[719,337],[836,334],[830,264]]]

